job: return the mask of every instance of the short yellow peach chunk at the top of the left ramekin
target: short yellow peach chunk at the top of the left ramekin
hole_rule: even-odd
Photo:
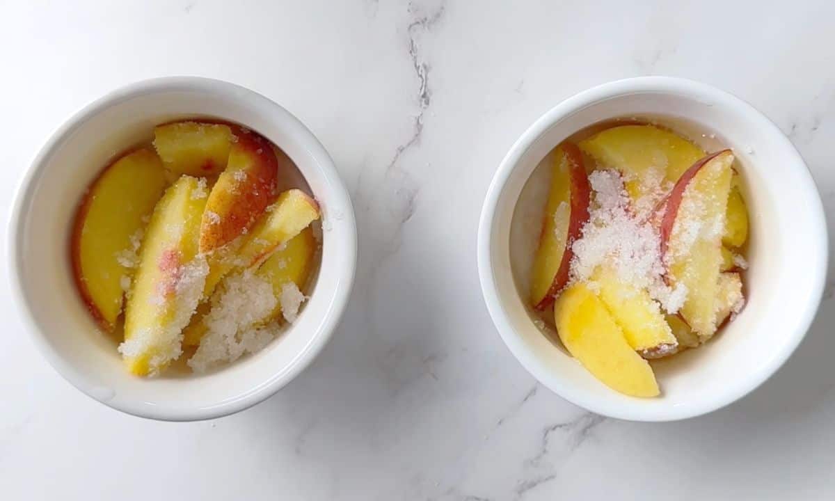
[[[176,175],[220,174],[234,140],[225,124],[186,121],[154,127],[154,147],[165,168]]]

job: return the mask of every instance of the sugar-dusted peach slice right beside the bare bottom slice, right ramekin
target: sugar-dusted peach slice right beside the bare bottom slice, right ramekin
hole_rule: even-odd
[[[676,347],[676,337],[649,292],[621,281],[607,268],[598,271],[593,280],[600,286],[600,299],[633,350],[666,351]]]

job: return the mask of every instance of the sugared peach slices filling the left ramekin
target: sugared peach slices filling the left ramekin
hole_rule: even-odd
[[[319,205],[281,149],[235,124],[182,121],[122,154],[83,195],[75,282],[139,376],[205,372],[296,320]]]

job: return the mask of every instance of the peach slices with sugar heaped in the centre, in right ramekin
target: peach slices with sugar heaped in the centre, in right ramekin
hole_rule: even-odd
[[[701,346],[745,304],[734,154],[629,123],[576,134],[548,161],[531,306],[601,382],[655,397],[647,361]]]

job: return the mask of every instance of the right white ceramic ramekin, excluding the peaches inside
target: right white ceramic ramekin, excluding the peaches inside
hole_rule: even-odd
[[[746,182],[751,237],[745,309],[706,346],[656,363],[662,395],[640,399],[605,387],[534,325],[526,284],[539,220],[524,227],[533,216],[525,215],[531,204],[520,195],[529,191],[524,185],[544,156],[570,134],[601,120],[646,116],[696,135],[692,139],[709,149],[725,145],[734,150]],[[592,412],[671,421],[734,402],[792,354],[821,300],[827,227],[800,154],[750,104],[681,78],[630,78],[565,100],[516,141],[484,201],[478,272],[499,334],[539,382]]]

